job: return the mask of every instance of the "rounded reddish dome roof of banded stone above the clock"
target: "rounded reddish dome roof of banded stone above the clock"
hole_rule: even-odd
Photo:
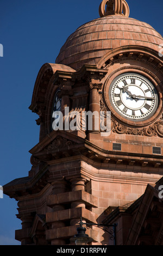
[[[97,64],[110,50],[139,45],[159,51],[162,36],[153,27],[122,15],[108,15],[85,23],[66,40],[56,63],[80,69],[84,64]]]

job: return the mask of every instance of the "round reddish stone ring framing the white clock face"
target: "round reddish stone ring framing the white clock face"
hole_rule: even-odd
[[[117,109],[112,105],[111,99],[109,97],[109,88],[110,86],[112,86],[113,81],[117,80],[117,77],[123,76],[125,74],[133,74],[133,75],[137,75],[137,76],[142,76],[143,78],[145,78],[146,80],[148,80],[149,82],[151,82],[151,84],[153,84],[153,87],[155,88],[157,95],[158,95],[158,106],[155,109],[155,113],[152,112],[151,116],[148,117],[146,120],[142,119],[142,120],[133,120],[133,119],[127,119],[126,117],[124,117],[122,114],[120,114]],[[128,69],[123,67],[123,72],[121,71],[114,71],[112,72],[112,74],[110,74],[108,76],[108,78],[105,81],[104,87],[103,87],[103,92],[104,92],[104,100],[106,103],[106,106],[108,107],[108,109],[111,111],[112,115],[114,115],[115,117],[117,117],[119,120],[121,120],[123,123],[126,123],[128,125],[131,126],[147,126],[151,123],[153,123],[156,119],[158,119],[158,117],[161,115],[162,113],[162,103],[160,100],[160,86],[158,84],[158,81],[156,81],[154,79],[154,77],[150,76],[148,74],[148,72],[142,72],[139,69]]]

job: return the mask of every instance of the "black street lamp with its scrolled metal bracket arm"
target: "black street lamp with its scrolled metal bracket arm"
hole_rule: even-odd
[[[89,235],[85,234],[86,228],[84,228],[83,225],[86,225],[86,227],[89,227],[90,225],[96,225],[97,227],[105,227],[105,231],[111,235],[111,240],[114,240],[114,245],[116,245],[116,226],[117,226],[116,223],[112,224],[112,225],[84,223],[81,218],[79,225],[80,225],[80,227],[77,228],[77,234],[74,235],[74,237],[70,239],[70,241],[75,242],[76,245],[87,245],[87,243],[93,241],[93,239],[91,237],[89,237]],[[107,230],[109,227],[112,227],[112,232]]]

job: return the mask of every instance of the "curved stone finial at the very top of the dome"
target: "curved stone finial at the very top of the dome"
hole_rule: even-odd
[[[99,15],[101,17],[108,15],[122,15],[128,17],[129,6],[125,0],[103,0],[99,5]]]

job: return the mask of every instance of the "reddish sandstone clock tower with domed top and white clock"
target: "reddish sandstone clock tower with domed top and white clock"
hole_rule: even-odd
[[[40,140],[30,150],[32,169],[3,187],[18,200],[22,245],[70,245],[80,217],[116,222],[118,245],[163,242],[163,38],[130,18],[124,0],[103,0],[99,15],[37,75],[29,109],[39,116]],[[101,113],[105,129],[110,113],[109,133]],[[155,211],[157,233],[151,224],[151,240],[143,240]],[[104,229],[92,225],[86,233],[92,245],[112,244]]]

